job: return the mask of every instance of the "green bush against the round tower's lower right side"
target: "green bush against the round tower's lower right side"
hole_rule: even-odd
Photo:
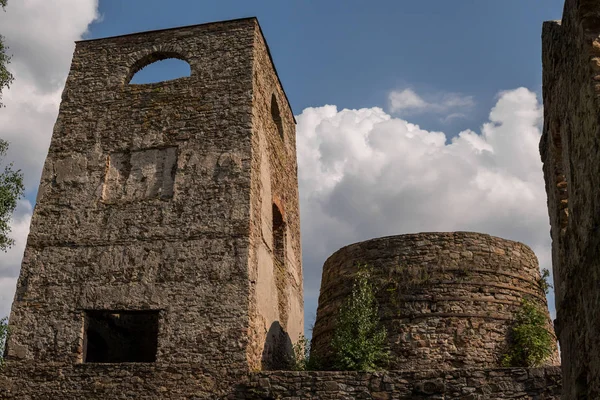
[[[545,313],[534,302],[523,299],[509,332],[509,351],[503,367],[539,367],[554,351],[554,338],[547,329]]]

